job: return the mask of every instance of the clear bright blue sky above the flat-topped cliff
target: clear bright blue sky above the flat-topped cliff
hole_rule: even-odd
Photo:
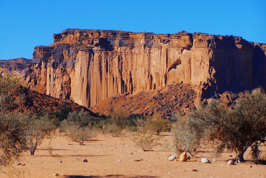
[[[203,32],[266,43],[266,0],[0,0],[0,59],[32,58],[67,28]]]

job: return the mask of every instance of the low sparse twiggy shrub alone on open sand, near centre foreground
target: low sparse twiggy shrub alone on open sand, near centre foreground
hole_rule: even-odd
[[[137,132],[137,135],[133,137],[133,142],[136,147],[141,148],[143,151],[151,151],[153,147],[161,145],[158,143],[159,136],[155,136],[149,132]]]

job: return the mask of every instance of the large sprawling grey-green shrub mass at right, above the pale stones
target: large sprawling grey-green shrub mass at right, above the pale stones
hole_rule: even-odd
[[[244,153],[251,147],[251,155],[258,158],[259,143],[265,142],[266,137],[266,95],[257,88],[240,96],[231,110],[213,100],[178,119],[173,129],[176,149],[191,151],[197,149],[200,140],[218,141],[217,154],[229,149],[243,161]]]

